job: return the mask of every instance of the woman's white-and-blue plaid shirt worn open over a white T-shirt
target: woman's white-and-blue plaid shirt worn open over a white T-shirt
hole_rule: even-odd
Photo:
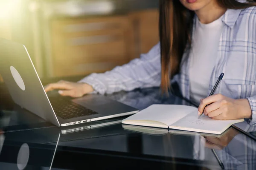
[[[216,90],[233,99],[247,98],[253,113],[250,125],[256,125],[256,7],[243,10],[228,9],[222,21],[225,23],[218,46],[218,56],[212,70],[209,91],[218,76],[224,78]],[[176,81],[184,97],[189,99],[189,50],[183,55],[180,73]],[[161,80],[160,43],[147,54],[128,64],[117,66],[102,74],[90,74],[79,82],[92,85],[99,94],[131,91],[135,88],[159,87]]]

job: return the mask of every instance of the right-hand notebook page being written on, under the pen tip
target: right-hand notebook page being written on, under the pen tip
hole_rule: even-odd
[[[243,121],[244,119],[215,120],[204,115],[202,115],[200,119],[198,119],[198,114],[197,112],[195,112],[195,113],[190,113],[189,115],[183,117],[183,119],[178,120],[177,122],[172,124],[170,128],[195,131],[195,132],[203,132],[203,133],[221,134],[234,123],[243,122]]]

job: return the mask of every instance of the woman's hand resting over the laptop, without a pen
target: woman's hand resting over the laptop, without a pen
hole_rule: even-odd
[[[71,97],[81,97],[84,94],[93,92],[92,86],[86,83],[68,82],[63,80],[57,83],[51,83],[44,88],[46,92],[52,91],[55,89],[60,89],[58,93],[61,96],[71,96]]]

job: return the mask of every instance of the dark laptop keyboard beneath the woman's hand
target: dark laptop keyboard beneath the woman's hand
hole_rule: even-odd
[[[72,102],[70,99],[66,99],[62,96],[49,97],[52,108],[57,116],[62,119],[72,119],[81,116],[88,116],[98,114],[96,111],[85,108]]]

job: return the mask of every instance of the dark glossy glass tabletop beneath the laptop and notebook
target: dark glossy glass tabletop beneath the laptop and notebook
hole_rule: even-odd
[[[142,110],[152,104],[194,105],[177,85],[108,95]],[[121,118],[62,127],[45,122],[12,102],[0,87],[0,169],[256,169],[256,127],[242,122],[221,136],[135,131]],[[76,130],[74,130],[76,128]],[[249,135],[252,134],[252,135]],[[218,161],[219,160],[219,161]]]

